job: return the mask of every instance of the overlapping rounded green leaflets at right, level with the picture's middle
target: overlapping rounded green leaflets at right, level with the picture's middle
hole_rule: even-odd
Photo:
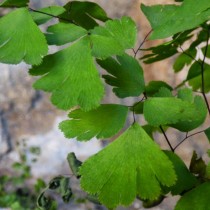
[[[180,90],[178,98],[154,97],[144,102],[145,119],[153,126],[170,125],[181,131],[190,131],[205,121],[206,114],[203,99],[195,96],[193,100],[189,89]]]

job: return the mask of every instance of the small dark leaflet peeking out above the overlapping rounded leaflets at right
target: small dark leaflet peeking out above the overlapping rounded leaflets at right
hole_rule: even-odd
[[[158,91],[165,87],[169,90],[173,90],[171,86],[169,86],[167,83],[163,81],[151,81],[149,84],[145,87],[145,92],[147,96],[153,96],[154,94],[158,93]]]

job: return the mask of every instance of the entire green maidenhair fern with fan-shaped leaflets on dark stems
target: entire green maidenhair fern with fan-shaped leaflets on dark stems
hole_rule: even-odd
[[[52,103],[70,112],[69,119],[59,126],[67,138],[84,142],[93,137],[111,138],[124,128],[128,113],[133,113],[130,127],[99,153],[83,163],[72,154],[68,156],[81,188],[109,209],[128,206],[136,197],[150,207],[168,193],[181,196],[175,210],[210,209],[210,163],[194,153],[188,169],[176,154],[191,136],[205,133],[210,139],[208,126],[193,132],[210,114],[206,96],[210,91],[210,1],[176,1],[173,5],[141,5],[152,29],[140,46],[136,46],[137,27],[130,17],[111,19],[93,2],[70,1],[40,9],[31,8],[29,0],[0,4],[12,8],[0,19],[0,62],[31,65],[29,74],[39,76],[34,88],[50,92]],[[39,26],[53,18],[57,23],[42,31]],[[170,39],[143,48],[147,39],[164,38]],[[48,54],[51,45],[62,48]],[[147,54],[139,58],[140,51]],[[202,57],[196,56],[198,51]],[[188,69],[182,83],[177,87],[164,81],[146,84],[140,63],[174,55],[174,71]],[[138,99],[133,105],[101,104],[106,85],[113,87],[118,98]],[[147,123],[137,122],[136,115]],[[170,127],[186,133],[175,146],[167,136]],[[162,132],[169,150],[155,142],[156,131]],[[69,201],[72,192],[68,184],[60,177],[49,186]],[[44,193],[38,201],[43,209],[50,208]]]

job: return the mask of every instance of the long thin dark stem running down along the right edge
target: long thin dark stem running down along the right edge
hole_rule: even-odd
[[[201,92],[202,92],[203,98],[206,102],[208,112],[210,114],[210,107],[209,107],[209,103],[208,103],[208,100],[207,100],[207,97],[206,97],[206,94],[205,94],[205,81],[204,81],[204,70],[205,70],[204,65],[205,65],[206,55],[207,55],[207,52],[208,52],[208,41],[209,41],[209,37],[210,37],[209,32],[210,32],[210,30],[208,29],[206,47],[205,47],[205,51],[204,51],[204,57],[203,57],[203,60],[202,60],[202,63],[201,63],[201,81],[202,81]]]

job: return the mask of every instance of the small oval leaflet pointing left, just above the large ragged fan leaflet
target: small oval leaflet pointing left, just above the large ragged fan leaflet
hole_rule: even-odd
[[[50,45],[64,45],[87,34],[87,31],[70,23],[58,23],[48,27],[47,42]]]

